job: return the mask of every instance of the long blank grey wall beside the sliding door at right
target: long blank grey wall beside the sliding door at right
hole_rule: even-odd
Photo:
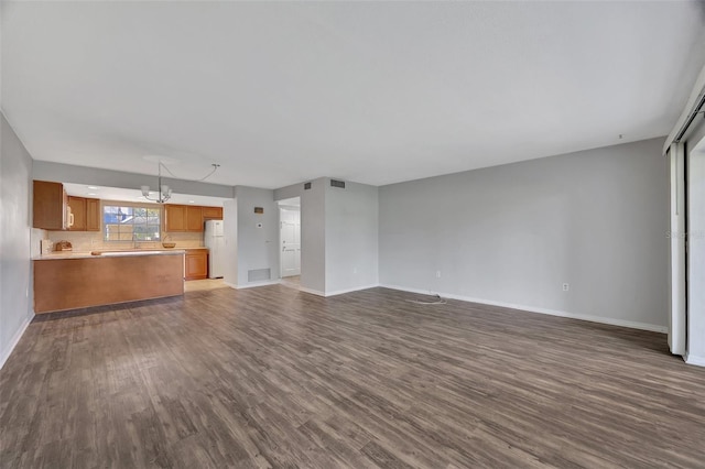
[[[652,139],[383,186],[380,283],[664,330],[662,144]]]

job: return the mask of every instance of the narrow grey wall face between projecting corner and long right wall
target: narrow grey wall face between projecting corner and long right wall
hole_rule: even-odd
[[[379,283],[379,190],[376,186],[326,184],[326,295],[369,288]]]

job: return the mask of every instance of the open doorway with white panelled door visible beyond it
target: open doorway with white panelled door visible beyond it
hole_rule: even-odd
[[[301,201],[300,197],[279,201],[280,275],[297,282],[301,275]]]

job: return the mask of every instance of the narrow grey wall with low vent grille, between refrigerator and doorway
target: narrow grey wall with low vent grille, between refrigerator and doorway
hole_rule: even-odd
[[[237,186],[237,285],[251,286],[248,271],[270,269],[270,281],[279,279],[279,207],[274,190]],[[262,207],[264,214],[256,214]],[[225,219],[224,215],[224,219]],[[262,227],[259,228],[258,223]],[[227,236],[227,233],[226,233]]]

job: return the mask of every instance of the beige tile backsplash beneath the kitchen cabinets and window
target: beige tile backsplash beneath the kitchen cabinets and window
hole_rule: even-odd
[[[198,232],[171,232],[166,233],[166,241],[175,242],[176,248],[200,248],[203,247],[203,233]],[[104,241],[101,231],[45,231],[44,239],[52,242],[68,241],[72,243],[74,252],[87,252],[96,250],[131,249],[132,241]],[[39,249],[39,240],[36,241]],[[141,249],[161,248],[161,241],[138,242]]]

